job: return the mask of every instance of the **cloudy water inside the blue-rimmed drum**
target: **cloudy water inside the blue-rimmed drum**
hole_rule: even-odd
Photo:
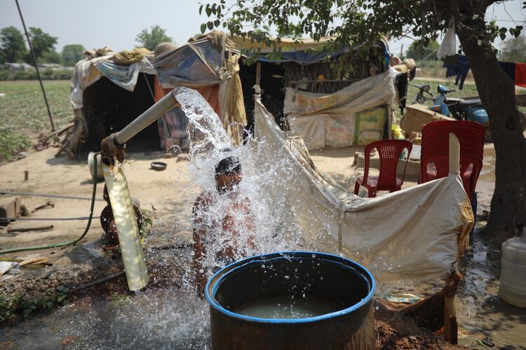
[[[277,296],[249,302],[233,312],[257,318],[309,318],[341,309],[341,305],[317,297]]]

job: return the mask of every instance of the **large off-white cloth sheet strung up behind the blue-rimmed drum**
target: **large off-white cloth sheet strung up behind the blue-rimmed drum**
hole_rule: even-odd
[[[299,248],[343,253],[381,281],[419,281],[447,272],[468,243],[473,212],[458,174],[360,198],[318,172],[302,140],[286,137],[259,99],[255,137],[267,161],[289,159],[275,190],[301,230]]]

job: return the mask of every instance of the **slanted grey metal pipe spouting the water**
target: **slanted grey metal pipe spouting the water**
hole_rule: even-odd
[[[119,144],[120,146],[126,144],[129,139],[134,137],[145,127],[154,123],[154,121],[163,116],[164,113],[177,106],[177,99],[175,96],[177,95],[178,89],[179,87],[175,87],[175,89],[169,94],[166,94],[165,97],[156,102],[156,104],[147,109],[147,111],[144,111],[144,113],[135,118],[135,120],[128,124],[123,130],[117,132],[114,139],[116,144]]]

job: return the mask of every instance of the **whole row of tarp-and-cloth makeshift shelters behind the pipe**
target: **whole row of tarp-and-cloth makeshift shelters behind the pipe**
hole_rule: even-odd
[[[109,48],[86,52],[92,58],[76,65],[72,80],[75,125],[69,153],[77,155],[82,144],[97,149],[100,139],[178,86],[198,90],[239,144],[243,131],[253,130],[252,87],[257,80],[262,102],[278,125],[301,136],[309,149],[384,138],[394,97],[386,73],[386,46],[379,41],[366,57],[346,57],[352,69],[342,71],[333,64],[351,49],[321,51],[329,39],[296,43],[283,38],[279,60],[269,59],[272,48],[262,45],[258,63],[250,66],[243,63],[241,52],[256,43],[220,31],[191,38],[179,48],[156,50],[155,55],[114,54]],[[157,131],[150,126],[139,139],[159,142],[164,150],[188,148],[187,125],[179,106],[159,119]]]

